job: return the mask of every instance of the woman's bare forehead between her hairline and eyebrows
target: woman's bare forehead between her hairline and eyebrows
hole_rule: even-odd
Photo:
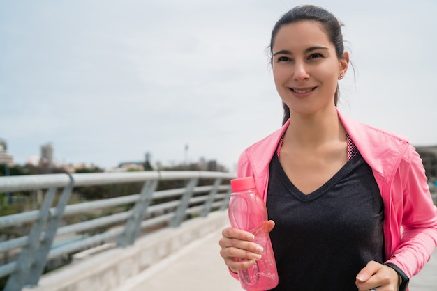
[[[273,42],[273,50],[290,49],[294,47],[303,49],[323,45],[332,47],[334,45],[329,40],[325,28],[319,22],[295,22],[285,24],[276,33]]]

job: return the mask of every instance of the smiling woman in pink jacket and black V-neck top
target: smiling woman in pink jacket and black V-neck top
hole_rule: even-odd
[[[327,10],[299,6],[283,15],[270,52],[283,127],[242,153],[238,175],[253,176],[266,201],[274,290],[407,290],[437,245],[419,155],[336,109],[349,55]],[[221,256],[235,277],[260,259],[252,240],[223,230]]]

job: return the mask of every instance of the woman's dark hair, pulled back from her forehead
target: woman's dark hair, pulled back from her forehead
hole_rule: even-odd
[[[304,5],[297,6],[292,8],[292,10],[288,11],[284,14],[278,22],[274,25],[272,30],[272,38],[270,38],[270,56],[273,54],[273,43],[278,33],[279,29],[286,24],[291,24],[295,22],[318,22],[323,26],[325,33],[328,36],[328,39],[332,42],[335,47],[335,52],[337,57],[343,58],[344,53],[344,45],[343,45],[343,34],[341,33],[341,26],[343,24],[339,22],[332,13],[325,10],[324,8],[313,6],[313,5]],[[337,88],[334,94],[334,104],[337,104],[339,100],[339,85],[337,84]],[[283,104],[284,116],[283,116],[283,124],[286,123],[288,118],[290,118],[290,109],[287,104]]]

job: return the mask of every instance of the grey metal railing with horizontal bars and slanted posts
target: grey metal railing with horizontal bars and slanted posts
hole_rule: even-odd
[[[165,226],[177,227],[190,217],[205,217],[213,210],[225,210],[230,198],[229,180],[232,178],[235,174],[207,171],[0,177],[0,194],[36,189],[46,191],[39,210],[0,217],[0,229],[31,224],[27,235],[0,241],[1,255],[15,254],[13,262],[0,266],[0,278],[9,276],[4,290],[22,290],[24,285],[37,285],[49,260],[106,242],[113,242],[118,247],[129,246],[140,232]],[[184,187],[156,191],[159,182],[166,180],[184,181]],[[68,205],[75,187],[133,182],[143,183],[140,193]],[[54,202],[56,206],[52,207]],[[64,225],[66,217],[115,208],[121,211],[109,211],[95,219]],[[80,235],[96,228],[105,230],[94,235]],[[74,239],[57,244],[59,237],[66,235]]]

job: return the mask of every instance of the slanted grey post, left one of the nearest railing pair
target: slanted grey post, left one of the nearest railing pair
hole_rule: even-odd
[[[19,291],[24,287],[24,283],[29,276],[31,265],[34,263],[35,253],[40,242],[40,236],[43,232],[47,217],[49,217],[50,207],[52,206],[55,193],[56,188],[50,188],[47,190],[47,194],[45,195],[43,204],[39,211],[38,219],[36,219],[34,226],[32,226],[30,230],[27,245],[24,246],[20,255],[18,255],[17,267],[15,271],[10,274],[5,286],[5,291]]]

